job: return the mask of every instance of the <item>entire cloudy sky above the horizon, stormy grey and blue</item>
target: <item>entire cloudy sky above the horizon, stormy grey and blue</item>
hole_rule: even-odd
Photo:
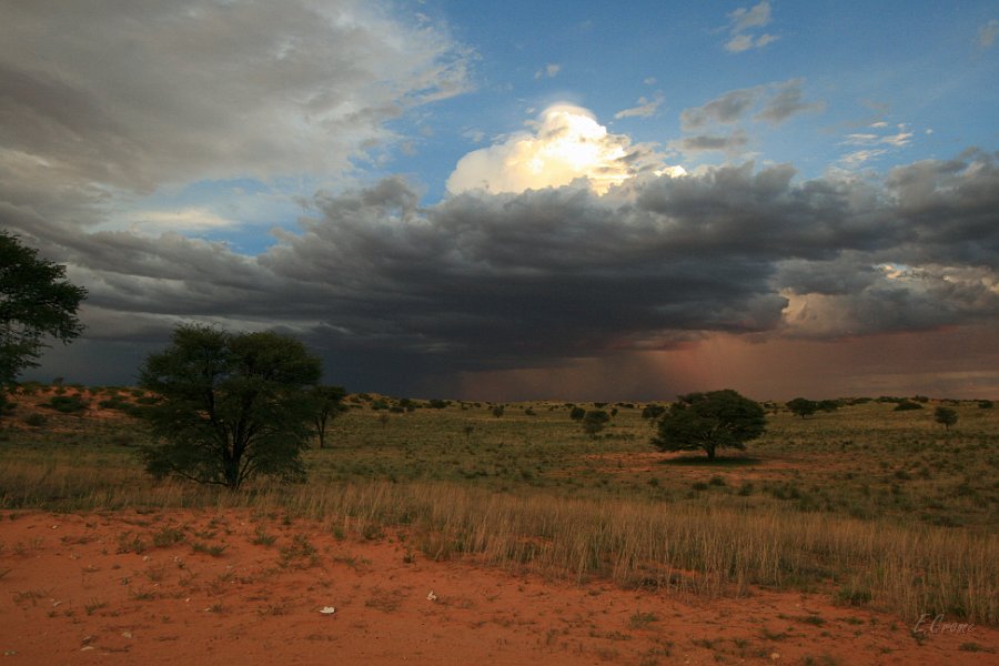
[[[12,0],[0,226],[351,391],[999,398],[999,2]]]

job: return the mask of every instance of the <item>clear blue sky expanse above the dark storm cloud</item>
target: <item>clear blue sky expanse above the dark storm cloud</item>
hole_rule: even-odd
[[[592,111],[633,142],[658,145],[670,163],[793,163],[798,178],[830,169],[884,172],[995,145],[999,138],[995,2],[879,2],[862,11],[823,2],[428,1],[394,9],[402,20],[434,26],[453,40],[468,62],[462,94],[387,120],[396,140],[362,151],[346,172],[171,183],[134,208],[199,208],[235,219],[235,228],[198,233],[252,254],[275,242],[271,226],[296,226],[295,198],[317,188],[404,173],[424,202],[440,201],[464,154],[523,131],[558,102]],[[758,110],[787,82],[796,83],[807,107],[787,120],[753,120],[750,110],[705,128],[718,135],[745,132],[740,150],[695,153],[677,145],[692,134],[682,124],[685,110],[733,91],[770,88],[759,93]],[[648,111],[639,114],[642,107]],[[628,109],[636,111],[617,117]]]

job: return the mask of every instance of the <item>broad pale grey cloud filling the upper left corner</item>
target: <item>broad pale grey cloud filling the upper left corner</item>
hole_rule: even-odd
[[[4,3],[0,148],[132,191],[339,174],[470,88],[443,26],[379,2]]]

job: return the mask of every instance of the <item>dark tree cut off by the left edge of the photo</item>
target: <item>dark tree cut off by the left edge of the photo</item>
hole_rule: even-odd
[[[7,386],[38,365],[46,339],[68,343],[83,332],[77,310],[84,297],[87,290],[65,279],[65,266],[0,231],[0,416]]]

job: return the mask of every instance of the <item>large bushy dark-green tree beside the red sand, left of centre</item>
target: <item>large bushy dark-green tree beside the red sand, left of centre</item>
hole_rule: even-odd
[[[142,452],[147,471],[232,490],[254,476],[304,480],[321,374],[294,339],[179,326],[141,369],[141,386],[160,397],[145,414],[160,440]]]

